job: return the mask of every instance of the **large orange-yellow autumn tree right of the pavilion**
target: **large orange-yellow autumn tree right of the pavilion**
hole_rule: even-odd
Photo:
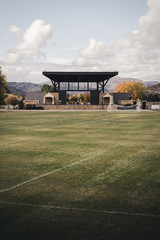
[[[121,82],[115,87],[116,92],[129,93],[130,98],[133,100],[143,100],[147,88],[142,82]]]

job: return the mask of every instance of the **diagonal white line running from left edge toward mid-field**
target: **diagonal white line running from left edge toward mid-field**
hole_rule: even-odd
[[[58,169],[53,170],[53,171],[51,171],[51,172],[42,174],[42,175],[40,175],[40,176],[38,176],[38,177],[31,178],[31,179],[29,179],[29,180],[27,180],[27,181],[25,181],[25,182],[22,182],[22,183],[19,183],[19,184],[13,186],[13,187],[6,188],[6,189],[2,189],[2,190],[0,190],[0,193],[8,192],[8,191],[10,191],[10,190],[12,190],[12,189],[21,187],[22,185],[25,185],[25,184],[27,184],[27,183],[36,181],[36,180],[38,180],[38,179],[40,179],[40,178],[43,178],[43,177],[46,177],[46,176],[51,175],[51,174],[53,174],[53,173],[62,171],[62,170],[64,170],[64,169],[66,169],[66,168],[72,167],[72,166],[74,166],[74,165],[76,165],[76,164],[79,164],[79,163],[81,163],[81,162],[85,162],[85,161],[87,161],[87,160],[89,160],[89,159],[91,159],[91,158],[94,158],[94,157],[96,157],[96,156],[98,156],[98,155],[100,155],[100,154],[102,154],[102,153],[97,153],[97,154],[92,155],[92,156],[90,156],[90,157],[81,159],[81,160],[79,160],[79,161],[77,161],[77,162],[74,162],[74,163],[71,163],[71,164],[69,164],[69,165],[67,165],[67,166],[64,166],[64,167],[62,167],[62,168],[58,168]]]

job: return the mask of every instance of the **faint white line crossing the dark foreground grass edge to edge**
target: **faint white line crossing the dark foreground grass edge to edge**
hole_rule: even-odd
[[[16,203],[16,202],[1,202],[0,204],[5,205],[15,205],[23,207],[36,207],[36,208],[47,208],[47,209],[59,209],[59,210],[69,210],[69,211],[81,211],[81,212],[90,212],[90,213],[102,213],[102,214],[116,214],[116,215],[128,215],[128,216],[139,216],[139,217],[153,217],[160,218],[160,215],[154,215],[149,213],[131,213],[131,212],[120,212],[120,211],[107,211],[100,209],[87,209],[87,208],[71,208],[71,207],[60,207],[60,206],[49,206],[49,205],[37,205],[31,203]]]

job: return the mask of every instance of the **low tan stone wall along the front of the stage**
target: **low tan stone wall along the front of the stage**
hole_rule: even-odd
[[[107,110],[108,105],[43,105],[44,110]]]

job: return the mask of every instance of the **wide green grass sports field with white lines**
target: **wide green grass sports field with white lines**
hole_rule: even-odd
[[[157,240],[159,226],[160,112],[0,112],[0,239]]]

